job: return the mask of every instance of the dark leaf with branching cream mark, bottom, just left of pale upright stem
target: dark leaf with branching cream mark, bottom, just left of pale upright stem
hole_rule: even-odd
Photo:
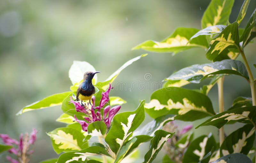
[[[214,149],[216,148],[216,142],[211,133],[208,136],[200,136],[190,143],[183,156],[182,162],[198,162],[203,159],[207,153],[212,151],[212,147],[214,147]]]

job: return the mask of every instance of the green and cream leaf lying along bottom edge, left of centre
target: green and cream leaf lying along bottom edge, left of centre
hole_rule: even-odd
[[[105,155],[109,156],[107,150],[105,148],[99,147],[99,146],[91,146],[86,149],[83,149],[81,151],[74,151],[74,152],[66,152],[60,155],[58,158],[57,163],[75,163],[75,162],[81,162],[84,163],[86,158],[89,156],[95,156],[95,155]]]

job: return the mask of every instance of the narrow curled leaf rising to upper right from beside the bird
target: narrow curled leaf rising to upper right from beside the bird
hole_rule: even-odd
[[[145,57],[145,56],[147,56],[147,55],[148,55],[148,54],[141,54],[141,55],[138,56],[138,57],[135,57],[135,58],[133,58],[133,59],[131,59],[131,60],[128,60],[127,62],[125,62],[125,63],[123,64],[123,66],[121,66],[121,67],[118,68],[113,74],[111,74],[111,75],[108,77],[107,80],[105,80],[104,82],[97,82],[97,83],[96,83],[96,87],[97,87],[98,89],[107,90],[107,89],[108,89],[108,84],[109,84],[109,83],[112,83],[124,68],[126,68],[126,67],[129,66],[129,65],[131,65],[134,61],[139,60],[140,58]]]

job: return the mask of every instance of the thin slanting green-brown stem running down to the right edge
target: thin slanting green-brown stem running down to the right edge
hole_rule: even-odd
[[[250,87],[251,87],[251,92],[252,92],[252,105],[255,106],[256,105],[256,92],[255,92],[255,83],[254,83],[254,80],[253,80],[253,76],[252,76],[252,71],[249,67],[249,64],[247,62],[247,59],[245,57],[245,54],[244,54],[244,51],[239,49],[240,53],[241,53],[241,56],[244,60],[244,65],[246,67],[246,70],[248,72],[248,76],[249,76],[249,80],[250,80]]]

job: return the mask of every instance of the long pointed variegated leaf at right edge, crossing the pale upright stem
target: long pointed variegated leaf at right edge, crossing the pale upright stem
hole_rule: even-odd
[[[249,106],[243,108],[236,108],[233,110],[224,111],[219,113],[202,124],[198,125],[196,128],[200,126],[215,126],[220,129],[224,124],[228,123],[229,121],[237,121],[241,123],[251,123],[251,120],[255,122],[256,120],[256,106]]]

